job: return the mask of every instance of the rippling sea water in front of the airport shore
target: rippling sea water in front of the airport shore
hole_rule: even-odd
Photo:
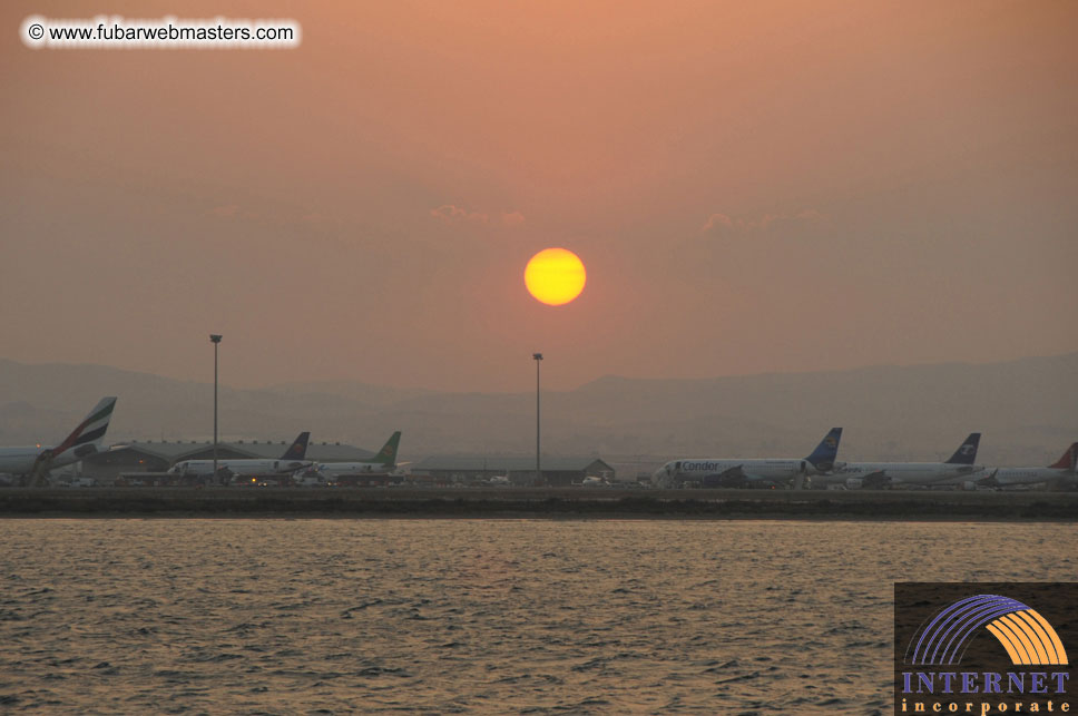
[[[0,712],[882,714],[896,580],[1070,524],[0,521]]]

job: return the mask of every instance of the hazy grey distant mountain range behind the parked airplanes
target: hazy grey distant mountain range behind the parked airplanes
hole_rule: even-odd
[[[937,460],[974,430],[978,462],[1048,464],[1078,440],[1078,353],[704,380],[605,376],[543,392],[549,454],[649,469],[675,457],[802,457],[842,425],[840,459]],[[99,365],[0,360],[0,444],[55,442],[102,395],[118,395],[107,442],[213,433],[213,385]],[[375,450],[404,431],[403,460],[529,454],[535,393],[447,393],[347,382],[222,388],[223,440],[291,440]]]

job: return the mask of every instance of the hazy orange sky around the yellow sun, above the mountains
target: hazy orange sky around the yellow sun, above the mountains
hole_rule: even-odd
[[[1078,350],[1078,3],[7,2],[3,357],[527,391]],[[296,50],[31,50],[29,14]],[[550,307],[528,258],[564,246]]]

